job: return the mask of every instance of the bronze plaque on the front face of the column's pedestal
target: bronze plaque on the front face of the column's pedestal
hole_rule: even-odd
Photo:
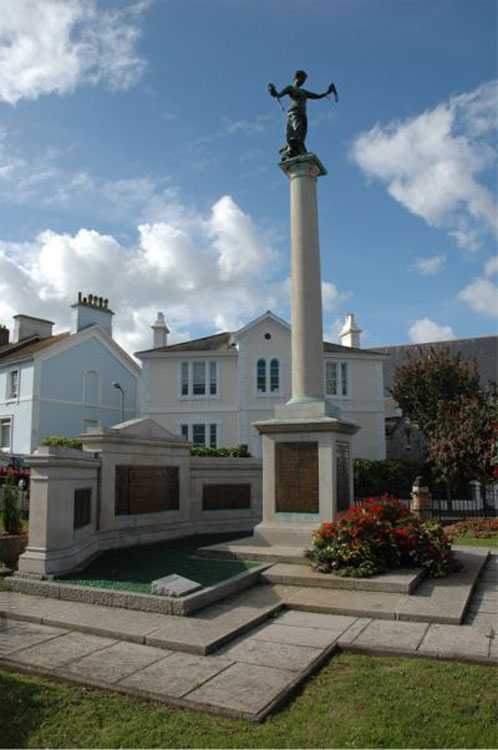
[[[318,513],[318,443],[275,443],[275,509]]]

